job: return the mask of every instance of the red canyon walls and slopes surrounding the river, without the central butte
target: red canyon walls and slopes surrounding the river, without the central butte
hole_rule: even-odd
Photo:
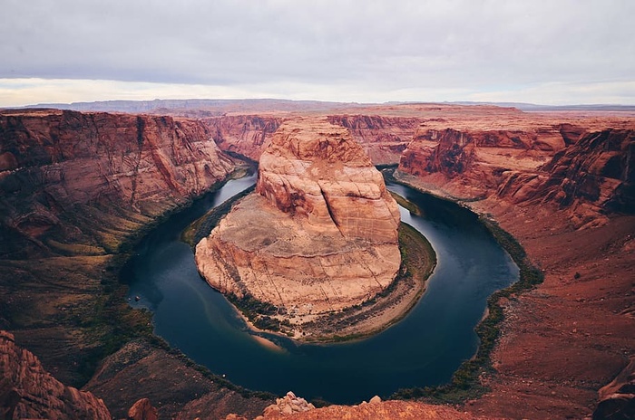
[[[402,182],[513,234],[544,281],[498,302],[504,318],[480,377],[484,391],[458,410],[386,401],[296,418],[583,418],[624,369],[626,385],[601,397],[615,402],[617,393],[628,409],[628,394],[618,391],[628,390],[635,354],[633,115],[450,104],[325,108],[312,118],[346,129],[374,164],[398,164]],[[302,112],[164,113],[173,115],[0,112],[0,329],[54,377],[102,398],[112,415],[149,397],[161,418],[253,418],[275,397],[231,387],[157,342],[149,315],[127,307],[117,267],[145,226],[230,176],[237,162],[222,150],[260,160],[278,129]]]

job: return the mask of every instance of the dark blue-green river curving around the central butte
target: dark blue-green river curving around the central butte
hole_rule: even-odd
[[[181,231],[255,177],[232,180],[157,227],[122,271],[132,306],[154,313],[154,332],[174,348],[234,384],[278,395],[357,404],[399,388],[445,383],[478,347],[474,333],[487,297],[518,280],[518,269],[477,217],[453,203],[406,186],[388,188],[418,205],[400,208],[402,220],[433,244],[438,264],[415,308],[396,325],[355,342],[298,344],[277,338],[282,349],[249,335],[228,301],[200,279]]]

